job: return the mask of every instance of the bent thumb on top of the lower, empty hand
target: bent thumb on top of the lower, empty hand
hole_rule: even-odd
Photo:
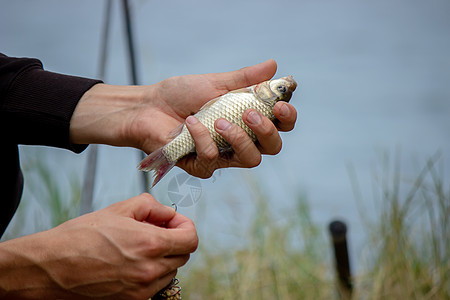
[[[152,195],[147,193],[115,203],[105,210],[153,224],[168,222],[176,214],[172,207],[159,203]]]

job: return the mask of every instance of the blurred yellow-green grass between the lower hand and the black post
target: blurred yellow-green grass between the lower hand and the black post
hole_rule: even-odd
[[[180,271],[186,299],[331,299],[335,293],[328,248],[310,223],[307,203],[298,199],[300,218],[280,225],[260,198],[248,229],[248,246],[214,252],[201,246],[202,262]],[[301,224],[303,223],[303,224]],[[307,224],[305,226],[305,224]],[[299,246],[293,241],[303,241]],[[212,241],[207,241],[211,244]],[[205,242],[201,243],[201,245]]]

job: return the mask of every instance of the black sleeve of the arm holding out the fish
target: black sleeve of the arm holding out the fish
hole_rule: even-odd
[[[37,59],[0,54],[2,143],[81,152],[86,145],[70,143],[70,119],[81,96],[100,82],[45,71]]]

